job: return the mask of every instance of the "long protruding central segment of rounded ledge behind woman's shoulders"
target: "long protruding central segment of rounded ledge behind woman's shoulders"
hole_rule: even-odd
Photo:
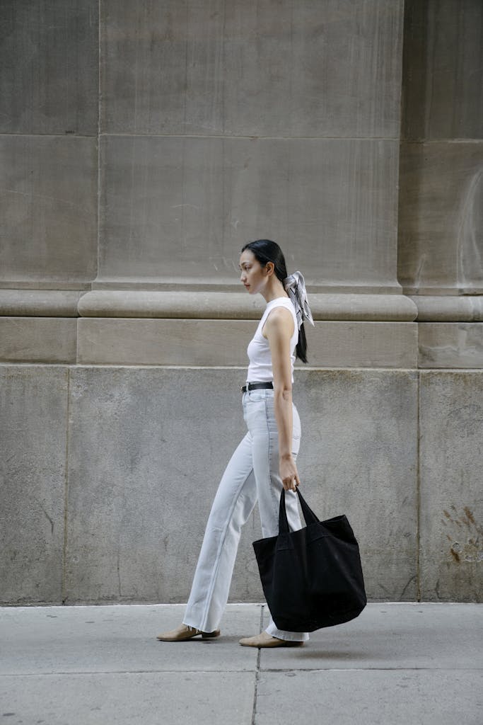
[[[417,308],[401,294],[310,294],[315,320],[412,322]],[[80,298],[81,317],[255,320],[264,310],[261,297],[221,291],[107,291]]]

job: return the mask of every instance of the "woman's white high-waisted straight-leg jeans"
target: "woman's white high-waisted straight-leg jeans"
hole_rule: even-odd
[[[273,390],[243,393],[243,417],[248,433],[230,459],[211,507],[190,598],[183,619],[201,631],[214,631],[227,604],[240,531],[259,502],[263,537],[278,534],[278,513],[282,481],[279,476],[278,431],[274,415]],[[294,457],[301,440],[301,423],[293,406]],[[301,528],[297,496],[285,496],[290,529]],[[304,642],[305,632],[287,632],[270,618],[266,631],[273,637]]]

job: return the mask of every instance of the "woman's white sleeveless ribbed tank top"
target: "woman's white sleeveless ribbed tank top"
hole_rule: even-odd
[[[289,297],[277,297],[268,302],[264,314],[261,316],[259,326],[256,328],[256,333],[253,336],[250,344],[248,344],[247,353],[248,365],[247,382],[248,383],[268,383],[273,381],[272,372],[272,355],[270,353],[269,341],[261,334],[266,323],[266,318],[274,307],[285,307],[286,310],[292,312],[293,317],[293,335],[290,338],[290,363],[292,365],[292,382],[293,382],[293,363],[295,363],[295,347],[298,342],[298,326],[297,326],[297,315],[295,315],[295,308]]]

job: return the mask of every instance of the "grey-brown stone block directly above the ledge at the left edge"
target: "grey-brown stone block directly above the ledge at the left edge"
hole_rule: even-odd
[[[95,138],[0,136],[0,280],[90,281],[97,268]]]

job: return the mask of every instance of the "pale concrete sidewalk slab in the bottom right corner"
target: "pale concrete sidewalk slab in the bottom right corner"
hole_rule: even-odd
[[[481,674],[476,670],[416,668],[368,672],[358,663],[353,670],[327,672],[315,669],[313,658],[306,661],[306,671],[285,673],[282,684],[280,674],[274,672],[266,672],[260,678],[256,725],[278,725],[282,720],[274,717],[275,712],[283,713],[284,721],[303,718],[314,723],[319,721],[322,708],[324,720],[337,725],[405,725],[408,721],[424,725],[476,725],[481,719],[481,698],[477,695]],[[314,693],[322,692],[321,706],[322,695],[316,697]],[[349,692],[350,697],[345,698],[343,694]]]

